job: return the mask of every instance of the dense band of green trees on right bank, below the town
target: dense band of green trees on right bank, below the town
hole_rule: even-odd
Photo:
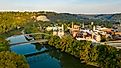
[[[121,50],[109,45],[93,45],[89,41],[77,41],[71,36],[61,39],[53,36],[49,45],[80,58],[87,64],[101,68],[121,68]]]

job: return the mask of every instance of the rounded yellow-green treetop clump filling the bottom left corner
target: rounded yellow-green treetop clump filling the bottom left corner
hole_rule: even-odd
[[[0,52],[0,68],[29,68],[25,58],[9,51]]]

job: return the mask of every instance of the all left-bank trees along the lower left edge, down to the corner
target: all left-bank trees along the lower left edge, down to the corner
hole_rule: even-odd
[[[0,38],[0,68],[29,68],[25,57],[9,51],[8,41]]]

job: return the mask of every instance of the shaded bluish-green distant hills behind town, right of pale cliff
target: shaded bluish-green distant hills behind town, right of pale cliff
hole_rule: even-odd
[[[47,12],[45,14],[51,21],[86,21],[86,20],[102,20],[102,21],[119,21],[121,20],[121,13],[117,14],[69,14],[69,13],[55,13]]]

